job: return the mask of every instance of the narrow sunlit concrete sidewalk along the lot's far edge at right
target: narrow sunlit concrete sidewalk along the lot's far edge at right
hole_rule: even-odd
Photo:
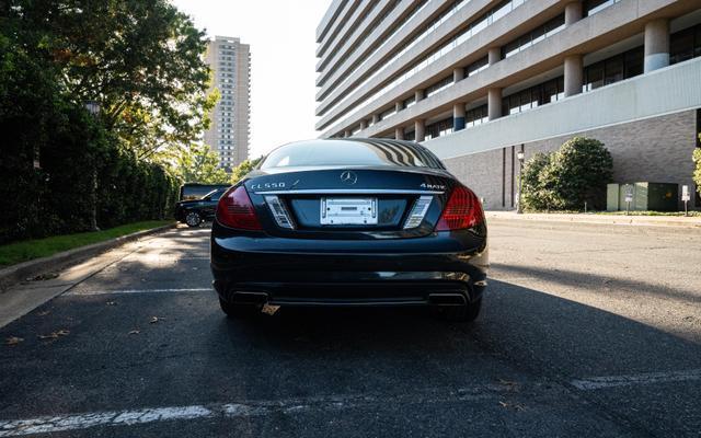
[[[625,216],[596,214],[522,214],[516,211],[485,211],[487,220],[531,222],[602,223],[643,227],[681,227],[701,229],[701,217],[683,216]]]

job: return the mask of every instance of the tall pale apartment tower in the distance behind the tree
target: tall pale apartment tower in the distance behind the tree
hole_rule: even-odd
[[[251,51],[239,38],[216,36],[207,47],[207,62],[212,70],[212,88],[221,97],[205,131],[205,143],[219,154],[227,171],[249,158],[251,123]]]

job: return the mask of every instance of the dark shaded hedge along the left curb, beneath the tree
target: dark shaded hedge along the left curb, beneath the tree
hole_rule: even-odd
[[[0,244],[88,231],[94,208],[100,228],[169,217],[179,182],[124,150],[33,62],[0,57]]]

